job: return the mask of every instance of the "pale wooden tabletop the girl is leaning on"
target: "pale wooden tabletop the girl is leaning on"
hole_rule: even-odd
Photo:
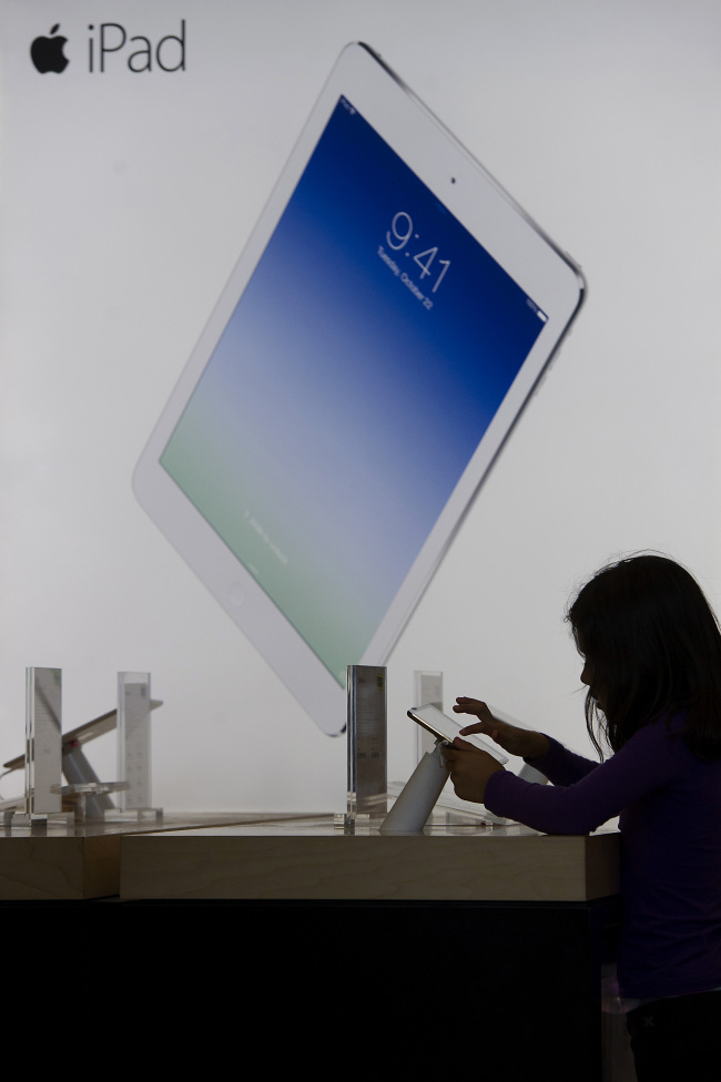
[[[362,829],[362,828],[360,828]],[[591,901],[617,895],[617,833],[434,826],[344,834],[333,816],[125,835],[121,898]]]

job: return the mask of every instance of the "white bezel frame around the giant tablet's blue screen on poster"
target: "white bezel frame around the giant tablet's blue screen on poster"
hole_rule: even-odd
[[[345,727],[345,687],[160,465],[160,457],[283,211],[344,95],[547,315],[547,321],[363,657],[385,664],[464,514],[583,299],[580,269],[368,47],[344,49],[151,435],[138,500],[232,620],[328,735]],[[412,524],[409,523],[409,529]]]

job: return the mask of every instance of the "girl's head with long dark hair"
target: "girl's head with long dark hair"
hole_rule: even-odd
[[[693,754],[721,757],[721,632],[684,568],[661,555],[619,560],[586,583],[566,619],[589,667],[586,725],[601,756],[597,733],[617,752],[683,711]]]

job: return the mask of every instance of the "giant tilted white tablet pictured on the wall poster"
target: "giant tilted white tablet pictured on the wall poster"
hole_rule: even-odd
[[[365,45],[342,53],[135,470],[317,725],[384,664],[583,280]]]

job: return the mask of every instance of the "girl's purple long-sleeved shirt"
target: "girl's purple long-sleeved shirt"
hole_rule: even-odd
[[[721,759],[698,759],[682,725],[646,725],[602,764],[549,737],[532,766],[552,787],[499,770],[486,788],[495,815],[547,834],[587,834],[620,814],[619,984],[636,999],[721,987]]]

